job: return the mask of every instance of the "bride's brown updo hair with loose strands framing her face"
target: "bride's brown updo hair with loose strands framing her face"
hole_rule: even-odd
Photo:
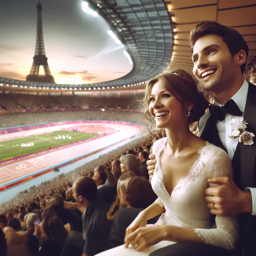
[[[151,122],[151,128],[152,120],[149,118],[151,116],[149,113],[150,95],[154,84],[158,81],[160,81],[167,91],[182,102],[184,115],[186,115],[187,111],[185,104],[190,103],[193,105],[190,110],[190,116],[188,117],[188,125],[198,121],[204,115],[209,102],[203,93],[198,91],[193,77],[183,69],[172,69],[157,75],[147,82],[144,97],[144,105],[146,106],[144,117]]]

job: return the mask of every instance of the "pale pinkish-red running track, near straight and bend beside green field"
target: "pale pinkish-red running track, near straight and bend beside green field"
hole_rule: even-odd
[[[85,141],[84,143],[78,145],[56,150],[54,152],[46,152],[45,154],[35,156],[30,159],[15,161],[11,164],[3,164],[0,167],[0,191],[52,171],[56,166],[63,166],[95,154],[114,144],[139,134],[144,128],[143,126],[121,123],[106,124],[95,122],[90,123],[90,125],[102,126],[100,130],[102,130],[103,127],[105,127],[106,130],[109,130],[108,128],[112,128],[117,132],[96,140],[89,142]],[[95,131],[97,132],[97,127],[95,128]]]

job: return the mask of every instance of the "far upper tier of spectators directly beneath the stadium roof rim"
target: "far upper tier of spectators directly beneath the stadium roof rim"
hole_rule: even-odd
[[[109,96],[109,97],[107,97]],[[141,94],[127,93],[110,95],[34,95],[34,94],[0,94],[0,110],[54,109],[54,108],[125,108],[138,109],[136,98]],[[100,99],[100,100],[99,100]]]

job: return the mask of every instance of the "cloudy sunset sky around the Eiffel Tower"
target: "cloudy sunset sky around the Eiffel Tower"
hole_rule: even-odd
[[[25,80],[36,44],[38,0],[0,0],[0,76]],[[81,8],[81,0],[41,0],[46,57],[55,83],[109,81],[132,65],[107,33],[108,25]]]

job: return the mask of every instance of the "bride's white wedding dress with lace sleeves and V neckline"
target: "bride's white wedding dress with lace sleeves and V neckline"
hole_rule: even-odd
[[[206,142],[206,146],[198,151],[198,158],[189,170],[189,174],[182,178],[172,193],[165,189],[164,172],[161,167],[161,154],[167,138],[156,141],[153,145],[153,154],[157,159],[156,168],[151,180],[152,188],[158,195],[155,201],[165,207],[155,225],[173,225],[194,229],[196,234],[206,244],[219,246],[225,249],[234,249],[238,238],[238,224],[236,218],[216,216],[216,228],[212,227],[210,209],[205,201],[204,189],[216,186],[208,183],[207,179],[219,176],[232,177],[232,164],[227,153],[219,147]],[[129,246],[110,249],[97,254],[98,256],[142,256],[174,244],[171,241],[161,241],[141,252]]]

